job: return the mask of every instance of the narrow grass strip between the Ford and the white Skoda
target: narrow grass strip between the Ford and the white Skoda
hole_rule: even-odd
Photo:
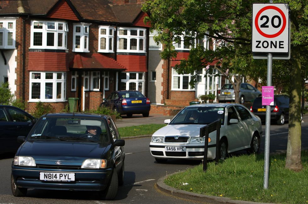
[[[152,135],[156,130],[166,126],[166,124],[146,124],[118,128],[121,137],[131,137],[138,135]]]

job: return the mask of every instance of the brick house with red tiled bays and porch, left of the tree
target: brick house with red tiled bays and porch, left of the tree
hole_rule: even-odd
[[[147,95],[148,34],[140,1],[0,2],[0,82],[34,112],[68,98],[96,109],[114,90]]]

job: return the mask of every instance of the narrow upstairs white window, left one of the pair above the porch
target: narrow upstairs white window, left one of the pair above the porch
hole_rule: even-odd
[[[89,26],[91,24],[74,24],[73,33],[73,52],[90,52],[89,51]],[[76,27],[80,27],[80,33],[76,33]],[[76,36],[80,36],[80,47],[76,48]],[[85,43],[85,39],[87,39]]]

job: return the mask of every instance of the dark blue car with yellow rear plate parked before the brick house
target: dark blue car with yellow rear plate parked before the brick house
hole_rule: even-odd
[[[126,114],[128,118],[133,114],[148,117],[151,109],[150,99],[143,96],[140,91],[114,91],[106,99],[104,98],[101,106],[111,107],[121,115]]]

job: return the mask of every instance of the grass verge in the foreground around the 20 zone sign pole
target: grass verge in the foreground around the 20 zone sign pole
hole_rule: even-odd
[[[234,200],[283,204],[308,203],[308,151],[302,151],[303,170],[285,169],[285,154],[270,157],[268,189],[263,189],[264,154],[241,155],[225,161],[203,164],[173,174],[165,183],[194,193]],[[188,183],[183,185],[183,183]]]

